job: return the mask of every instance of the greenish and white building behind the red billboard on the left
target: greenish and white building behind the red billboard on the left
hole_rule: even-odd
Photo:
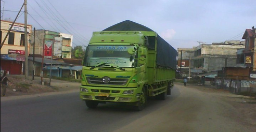
[[[43,55],[44,45],[44,57],[46,58],[50,58],[52,55],[54,58],[71,58],[72,41],[73,35],[47,30],[36,30],[35,54]],[[54,52],[53,54],[52,51]],[[30,54],[33,54],[33,50],[30,51]]]

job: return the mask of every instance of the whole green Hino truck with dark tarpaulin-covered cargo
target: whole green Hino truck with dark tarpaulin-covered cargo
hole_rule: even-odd
[[[86,48],[80,98],[88,108],[125,102],[142,110],[147,98],[171,95],[176,50],[150,28],[126,20],[94,32]]]

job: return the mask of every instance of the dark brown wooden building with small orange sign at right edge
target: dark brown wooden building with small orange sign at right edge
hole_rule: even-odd
[[[218,71],[216,85],[232,93],[256,92],[255,28],[246,29],[245,48],[237,49],[237,65]]]

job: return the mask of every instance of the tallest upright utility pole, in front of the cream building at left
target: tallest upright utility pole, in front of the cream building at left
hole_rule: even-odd
[[[25,79],[29,79],[29,57],[28,57],[28,20],[27,20],[27,0],[24,0],[24,19],[25,19]]]

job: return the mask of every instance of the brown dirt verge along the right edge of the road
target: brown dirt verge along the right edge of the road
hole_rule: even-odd
[[[183,85],[182,83],[176,83]],[[188,89],[197,89],[202,92],[212,93],[214,96],[231,104],[235,109],[227,109],[226,115],[248,127],[256,126],[256,99],[254,97],[242,96],[230,93],[228,90],[215,89],[212,86],[200,86],[197,84],[189,84]]]

